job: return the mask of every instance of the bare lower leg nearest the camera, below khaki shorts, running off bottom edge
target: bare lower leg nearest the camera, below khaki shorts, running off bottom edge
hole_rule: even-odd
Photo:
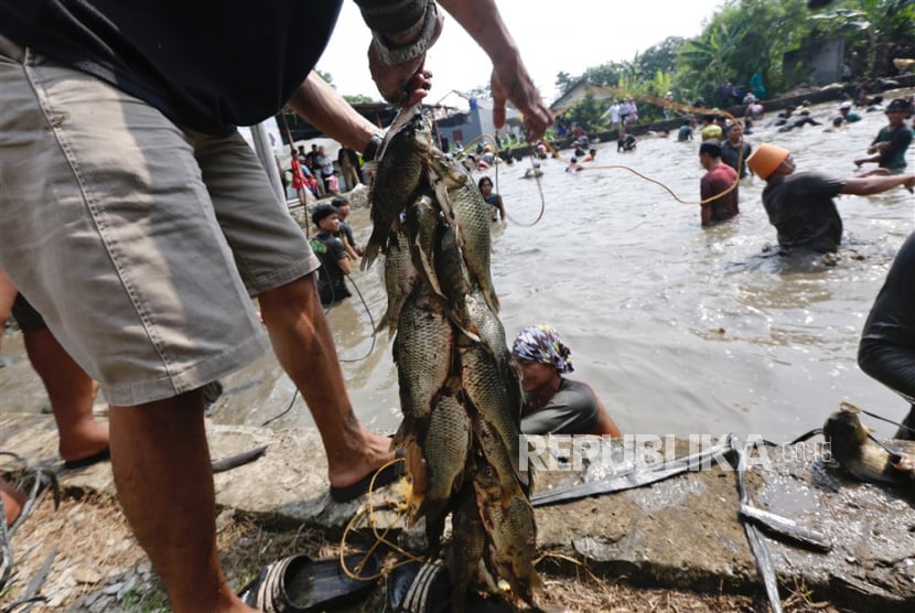
[[[215,493],[197,391],[111,407],[118,497],[175,613],[248,612],[216,552]]]

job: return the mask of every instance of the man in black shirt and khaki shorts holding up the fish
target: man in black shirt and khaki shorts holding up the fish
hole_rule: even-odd
[[[119,498],[176,612],[250,611],[218,561],[200,392],[267,348],[249,295],[332,486],[390,458],[345,394],[317,260],[235,128],[289,104],[376,153],[375,127],[312,72],[341,2],[0,0],[0,267],[111,401]],[[358,3],[379,92],[418,103],[435,3]],[[441,4],[494,62],[495,125],[510,100],[541,138],[552,117],[494,1]]]

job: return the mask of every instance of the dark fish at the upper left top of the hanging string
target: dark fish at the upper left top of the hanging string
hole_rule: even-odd
[[[363,255],[363,270],[386,252],[400,215],[427,184],[432,128],[419,106],[400,111],[385,137],[372,181],[372,235]]]

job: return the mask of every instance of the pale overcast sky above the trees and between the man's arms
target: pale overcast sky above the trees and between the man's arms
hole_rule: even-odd
[[[667,36],[696,36],[722,0],[502,0],[499,11],[521,50],[534,80],[549,103],[556,75],[580,75],[605,62],[628,61]],[[305,20],[305,23],[308,21]],[[337,92],[380,99],[368,74],[366,50],[372,35],[355,2],[343,3],[337,28],[317,69],[330,73]],[[445,13],[442,36],[428,54],[434,103],[451,89],[487,84],[492,63],[464,30]]]

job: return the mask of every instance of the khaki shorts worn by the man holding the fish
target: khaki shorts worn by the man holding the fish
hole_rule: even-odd
[[[155,108],[0,36],[0,268],[132,406],[269,348],[250,295],[317,258],[237,133]]]

